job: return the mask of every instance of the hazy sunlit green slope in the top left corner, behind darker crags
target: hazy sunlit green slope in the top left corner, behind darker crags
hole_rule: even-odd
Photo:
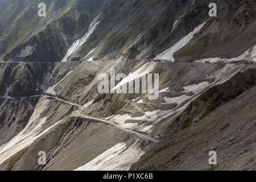
[[[59,12],[55,15],[57,18],[60,15],[64,15],[73,6],[76,0],[72,1],[45,1],[47,7],[47,14],[54,14],[55,11]],[[43,30],[46,24],[51,23],[43,21],[45,18],[38,16],[38,4],[39,0],[31,1],[27,6],[24,1],[14,1],[9,8],[0,14],[0,22],[3,29],[7,28],[5,35],[2,35],[0,44],[5,44],[4,49],[0,49],[0,55],[11,51],[19,44],[28,40],[31,36],[37,34],[40,30]],[[60,11],[61,10],[61,11]],[[47,18],[47,17],[46,17]],[[54,20],[54,18],[52,19]],[[12,22],[10,25],[7,23]],[[43,22],[43,24],[41,24]],[[36,27],[40,27],[36,30]]]

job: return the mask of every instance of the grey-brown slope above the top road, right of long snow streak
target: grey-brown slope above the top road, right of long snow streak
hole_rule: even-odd
[[[256,44],[255,1],[218,1],[217,17],[210,18],[208,27],[176,52],[180,61],[205,57],[237,57]]]

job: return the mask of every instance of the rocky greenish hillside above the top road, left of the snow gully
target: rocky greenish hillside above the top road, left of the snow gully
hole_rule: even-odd
[[[46,1],[47,16],[39,17],[40,2],[16,0],[8,6],[2,1],[7,4],[0,15],[3,60],[59,61],[104,6],[102,1]]]

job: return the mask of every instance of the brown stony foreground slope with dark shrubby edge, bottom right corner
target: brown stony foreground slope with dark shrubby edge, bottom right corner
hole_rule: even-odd
[[[188,107],[179,119],[168,127],[165,132],[168,136],[167,139],[144,155],[131,169],[255,170],[255,67],[253,70],[247,69],[245,72],[238,73],[224,84],[233,82],[235,85],[236,78],[247,77],[248,80],[242,81],[243,84],[246,84],[251,81],[248,76],[249,72],[253,74],[253,88],[247,90],[241,86],[238,90],[247,92],[236,98],[234,98],[236,93],[228,95],[224,93],[227,97],[220,101],[226,102],[231,98],[232,101],[216,107],[216,110],[205,114],[205,117],[199,121],[190,119],[188,121],[188,118],[184,118],[184,115],[188,115],[188,109],[193,108],[191,109],[192,112],[194,111],[193,115],[197,111],[195,106]],[[221,88],[221,86],[223,84],[216,87]],[[202,96],[209,96],[209,92]],[[197,103],[194,101],[192,105]],[[214,106],[214,104],[210,106]],[[217,152],[218,164],[216,166],[210,166],[208,163],[210,157],[208,153],[213,150]]]

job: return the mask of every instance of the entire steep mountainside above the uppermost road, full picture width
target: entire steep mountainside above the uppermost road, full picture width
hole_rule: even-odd
[[[216,1],[212,18],[209,1],[199,0],[52,0],[43,18],[36,0],[2,3],[4,61],[61,61],[66,53],[71,61],[154,58],[207,20],[187,46],[172,52],[179,61],[237,57],[256,43],[255,1]]]

